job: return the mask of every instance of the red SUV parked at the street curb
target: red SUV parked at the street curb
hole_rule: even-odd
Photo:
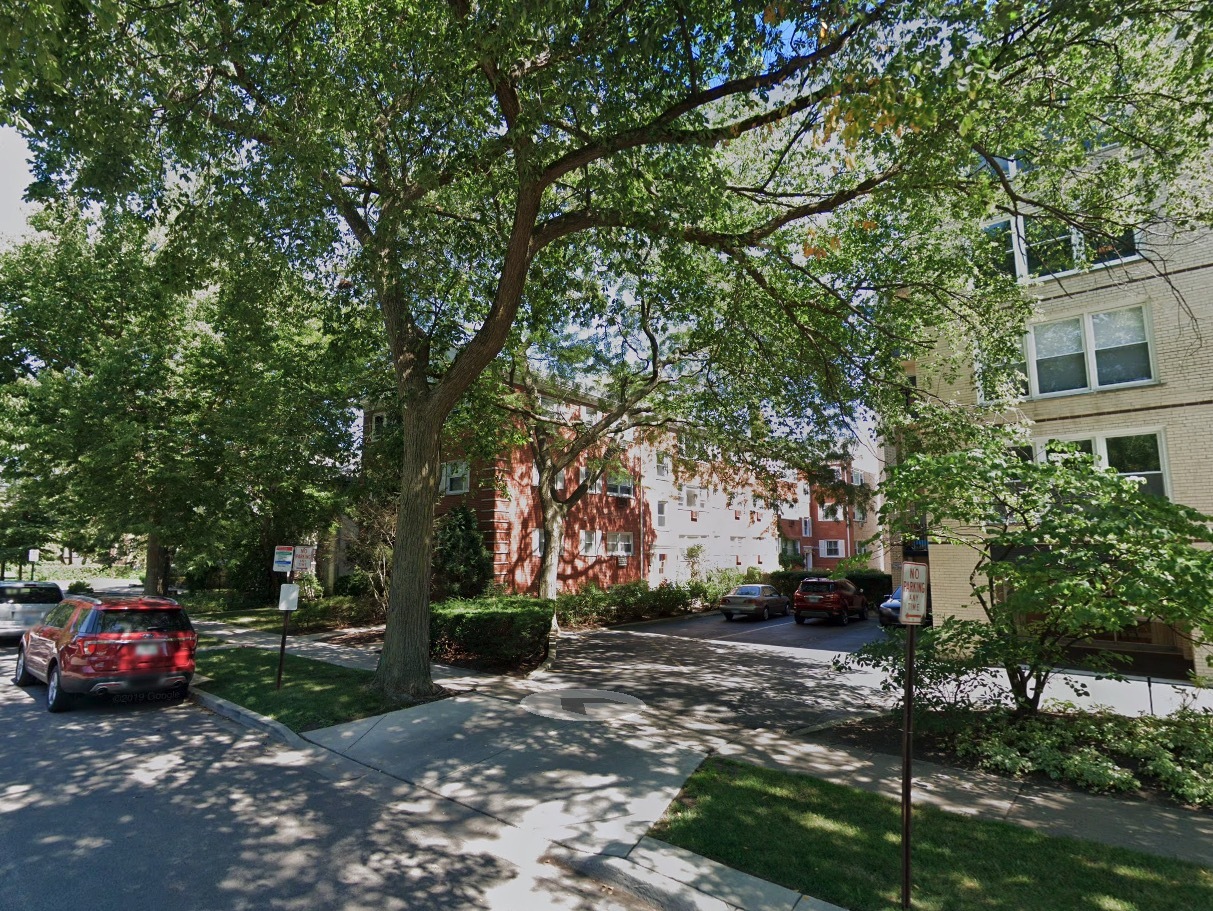
[[[197,648],[198,633],[175,600],[76,594],[22,636],[13,683],[45,681],[51,712],[79,694],[184,695]]]

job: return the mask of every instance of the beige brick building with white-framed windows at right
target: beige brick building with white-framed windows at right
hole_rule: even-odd
[[[1038,301],[1015,404],[1038,454],[1049,439],[1077,443],[1101,463],[1145,478],[1151,491],[1213,513],[1213,234],[1126,234],[1088,252],[1095,264],[1077,271],[1084,241],[1064,226],[1021,217],[990,233],[1006,241],[1004,268]],[[917,374],[921,387],[944,399],[978,402],[973,374],[951,383]],[[970,600],[972,554],[957,546],[929,551],[935,611],[980,619]],[[1185,633],[1143,621],[1094,644],[1171,657],[1213,678],[1213,645]]]

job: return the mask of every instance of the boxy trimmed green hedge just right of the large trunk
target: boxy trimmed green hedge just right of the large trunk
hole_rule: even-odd
[[[429,608],[435,661],[494,668],[537,664],[547,653],[552,602],[529,596],[444,600]]]

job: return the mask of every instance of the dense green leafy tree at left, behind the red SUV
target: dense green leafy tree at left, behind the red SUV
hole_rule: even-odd
[[[75,550],[146,540],[153,592],[173,553],[264,581],[277,536],[335,507],[357,346],[331,351],[267,249],[190,266],[130,212],[70,203],[34,226],[0,254],[0,468],[19,502]]]

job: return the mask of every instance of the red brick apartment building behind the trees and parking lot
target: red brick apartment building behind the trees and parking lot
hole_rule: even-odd
[[[593,406],[569,402],[569,417]],[[374,437],[382,414],[366,417]],[[871,486],[871,473],[836,468],[836,477]],[[573,468],[564,478],[571,490],[585,477]],[[845,472],[845,473],[844,473]],[[708,477],[704,472],[702,477]],[[492,554],[497,582],[517,592],[536,592],[543,541],[537,473],[528,448],[519,446],[488,465],[462,460],[442,469],[439,516],[459,505],[471,507]],[[649,445],[627,445],[617,471],[608,472],[569,512],[560,542],[559,580],[564,591],[647,580],[685,581],[714,569],[768,573],[781,568],[780,553],[798,565],[830,570],[845,557],[865,552],[876,535],[875,509],[848,505],[825,507],[813,489],[787,476],[791,502],[776,512],[757,502],[745,486],[723,489],[710,480],[676,477],[668,454]]]

